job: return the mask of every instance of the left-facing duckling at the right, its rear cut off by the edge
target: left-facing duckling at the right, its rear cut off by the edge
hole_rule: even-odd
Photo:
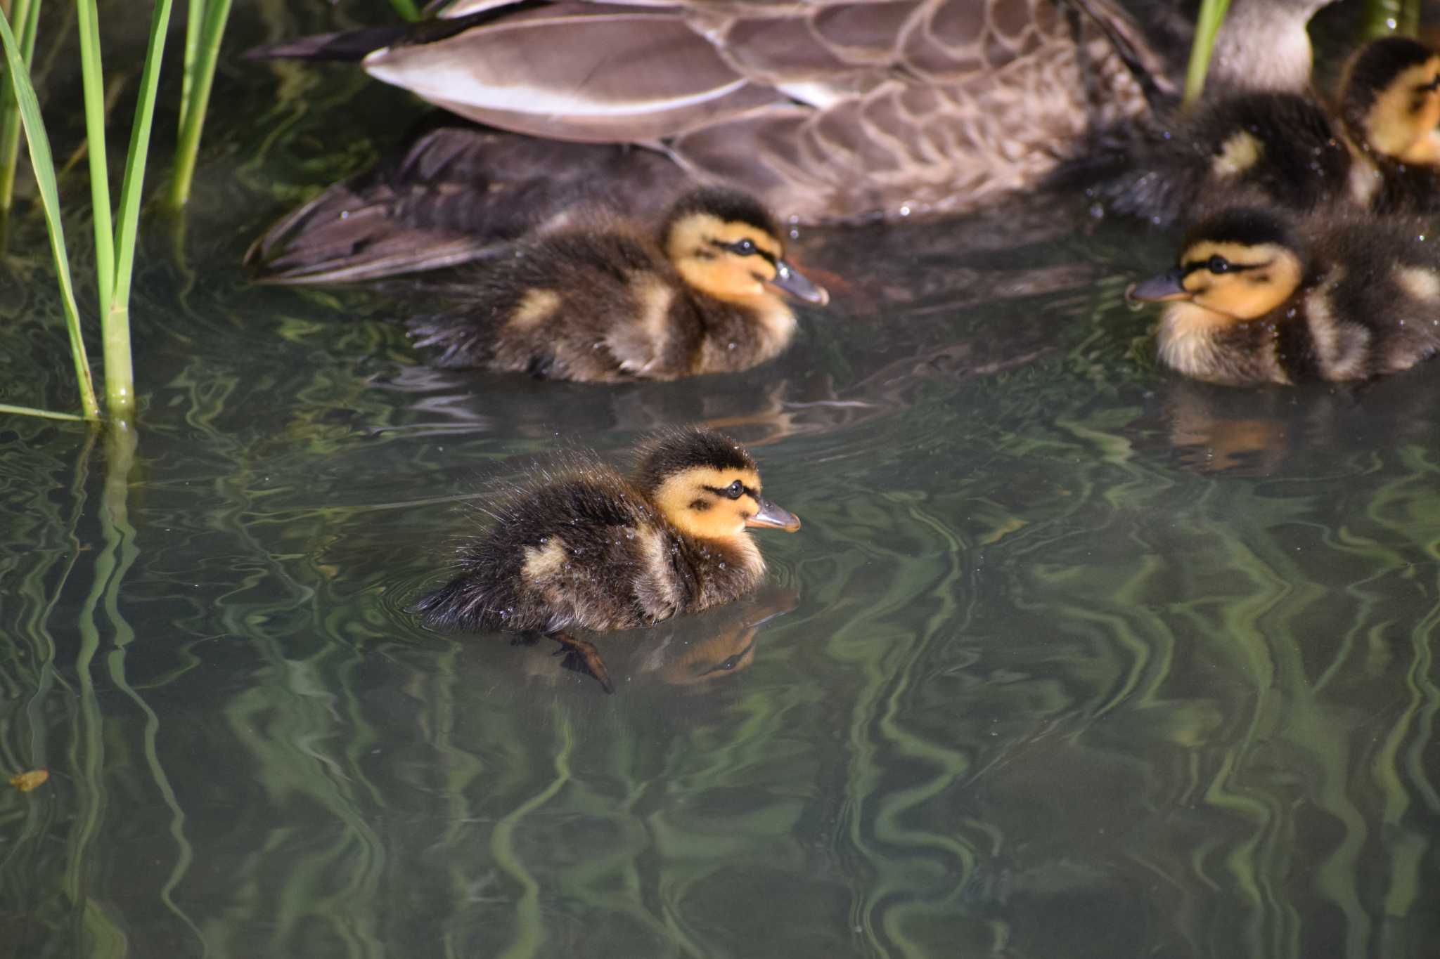
[[[1367,380],[1440,348],[1440,239],[1408,219],[1218,213],[1189,230],[1179,265],[1133,285],[1172,302],[1159,358],[1187,377],[1250,385]]]

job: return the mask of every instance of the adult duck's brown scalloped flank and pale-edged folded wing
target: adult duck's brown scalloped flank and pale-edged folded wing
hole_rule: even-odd
[[[366,69],[504,129],[660,148],[808,221],[1031,185],[1164,85],[1109,0],[477,0]]]

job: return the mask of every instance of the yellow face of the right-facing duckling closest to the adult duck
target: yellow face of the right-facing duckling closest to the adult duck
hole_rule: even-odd
[[[671,263],[687,283],[717,299],[753,303],[778,300],[765,283],[775,279],[775,265],[759,253],[742,256],[726,249],[750,240],[772,257],[783,256],[780,242],[747,223],[727,223],[708,213],[693,213],[670,231]],[[721,246],[717,246],[721,244]]]

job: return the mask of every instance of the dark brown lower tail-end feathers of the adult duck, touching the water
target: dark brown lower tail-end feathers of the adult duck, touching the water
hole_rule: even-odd
[[[660,219],[685,174],[624,145],[517,137],[452,121],[272,226],[246,262],[268,283],[367,280],[492,256],[592,211]]]

